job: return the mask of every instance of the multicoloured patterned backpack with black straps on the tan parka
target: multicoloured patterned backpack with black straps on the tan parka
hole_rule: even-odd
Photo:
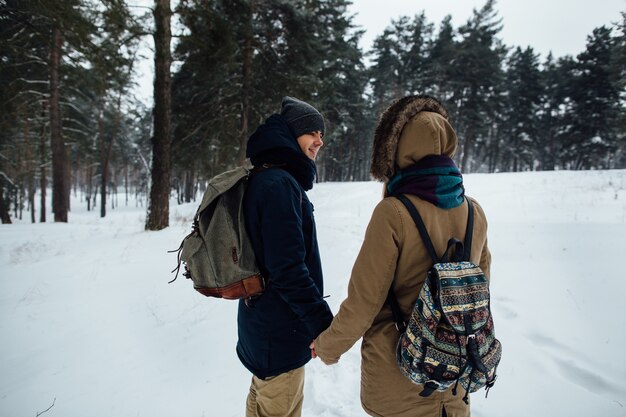
[[[408,324],[404,322],[397,299],[389,290],[396,327],[401,331],[396,361],[412,382],[423,385],[420,393],[451,386],[456,395],[460,385],[463,400],[482,387],[487,393],[496,380],[502,345],[496,339],[489,300],[489,282],[481,268],[470,262],[474,210],[469,199],[467,231],[464,242],[451,238],[440,258],[422,218],[409,199],[398,199],[411,214],[424,245],[433,260],[424,285],[413,306]],[[454,256],[450,252],[454,249]]]

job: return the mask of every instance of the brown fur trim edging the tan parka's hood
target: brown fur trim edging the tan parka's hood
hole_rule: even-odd
[[[388,181],[395,173],[398,140],[404,126],[417,113],[430,111],[448,119],[448,112],[435,98],[426,95],[407,96],[396,100],[378,119],[374,131],[371,173],[380,181]]]

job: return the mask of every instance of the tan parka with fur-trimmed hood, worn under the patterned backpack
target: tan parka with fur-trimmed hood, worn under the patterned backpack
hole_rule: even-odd
[[[427,155],[451,156],[457,138],[439,102],[425,96],[398,100],[383,115],[376,129],[372,174],[387,181],[397,169],[406,168]],[[433,245],[443,254],[448,239],[463,240],[467,204],[441,209],[416,196],[417,207]],[[487,221],[475,207],[471,261],[489,276],[491,256],[487,248]],[[348,296],[331,326],[315,340],[317,355],[335,363],[357,340],[361,344],[361,403],[373,416],[469,416],[463,395],[450,390],[419,396],[421,387],[401,374],[396,364],[399,333],[386,303],[392,287],[400,309],[409,317],[413,304],[432,266],[411,216],[393,197],[384,198],[374,209],[363,245],[352,269]]]

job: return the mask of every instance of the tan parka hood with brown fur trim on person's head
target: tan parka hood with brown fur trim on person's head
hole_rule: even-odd
[[[448,112],[438,100],[425,95],[401,98],[380,116],[374,131],[371,173],[386,182],[397,169],[427,155],[454,155],[457,143]]]

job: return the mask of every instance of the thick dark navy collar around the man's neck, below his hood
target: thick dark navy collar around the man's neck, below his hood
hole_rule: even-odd
[[[309,191],[317,176],[317,168],[308,156],[291,148],[276,148],[259,153],[250,158],[255,167],[264,164],[276,166],[289,172],[298,183]]]

